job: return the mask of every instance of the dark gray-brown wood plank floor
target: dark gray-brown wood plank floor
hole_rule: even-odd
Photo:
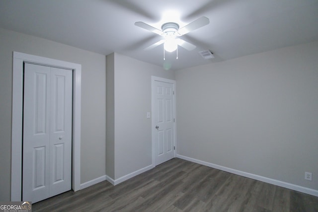
[[[318,212],[318,197],[174,158],[113,186],[104,181],[32,205],[51,212]]]

